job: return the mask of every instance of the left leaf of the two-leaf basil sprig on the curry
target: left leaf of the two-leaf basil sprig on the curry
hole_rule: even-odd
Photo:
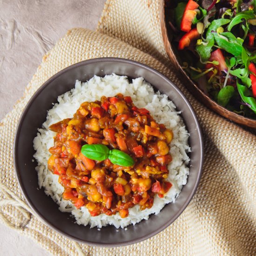
[[[109,148],[102,144],[86,144],[81,148],[83,155],[96,161],[103,161],[108,159],[109,151]]]

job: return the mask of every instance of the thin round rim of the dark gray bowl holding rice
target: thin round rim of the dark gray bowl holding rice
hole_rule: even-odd
[[[20,129],[23,123],[23,120],[25,118],[25,116],[27,115],[27,112],[31,106],[31,104],[33,103],[34,99],[41,93],[41,91],[47,87],[47,85],[49,83],[51,83],[52,81],[54,81],[56,78],[58,78],[59,76],[61,76],[62,74],[66,73],[67,71],[71,70],[71,69],[75,69],[76,67],[80,67],[80,66],[84,66],[90,63],[95,63],[95,62],[116,62],[118,63],[128,63],[131,65],[135,65],[137,67],[142,67],[146,70],[148,70],[149,72],[160,76],[162,79],[164,79],[165,81],[167,81],[168,83],[171,83],[173,86],[173,89],[175,89],[181,96],[182,99],[187,103],[189,111],[191,113],[191,115],[193,116],[193,119],[195,120],[195,125],[196,128],[198,130],[198,136],[199,136],[199,154],[200,154],[200,159],[198,160],[198,162],[200,162],[199,164],[199,169],[198,169],[198,174],[196,177],[196,181],[195,181],[195,186],[193,187],[193,189],[191,189],[189,196],[187,197],[187,199],[185,200],[185,202],[182,204],[181,209],[179,209],[179,211],[175,214],[175,216],[173,216],[168,222],[166,222],[164,225],[162,225],[161,227],[159,227],[158,229],[156,229],[154,232],[151,232],[145,236],[142,236],[140,238],[136,238],[136,239],[132,239],[129,240],[127,242],[120,242],[120,243],[108,243],[108,244],[104,244],[104,243],[94,243],[94,242],[87,242],[84,241],[82,239],[78,239],[72,235],[66,234],[65,232],[62,232],[61,230],[59,230],[54,223],[49,222],[45,219],[45,217],[40,213],[40,211],[38,211],[35,206],[34,203],[32,202],[32,200],[30,200],[29,195],[27,195],[27,193],[25,193],[25,186],[23,185],[23,182],[21,180],[21,177],[19,175],[20,173],[20,168],[18,166],[18,162],[16,161],[17,159],[17,144],[18,144],[18,138],[20,136]],[[123,59],[123,58],[114,58],[114,57],[103,57],[103,58],[94,58],[94,59],[90,59],[90,60],[85,60],[85,61],[80,61],[77,63],[74,63],[73,65],[70,65],[62,70],[60,70],[58,73],[54,74],[52,77],[50,77],[49,79],[47,79],[47,81],[45,81],[40,88],[38,88],[34,94],[32,95],[32,97],[29,99],[29,101],[27,102],[27,105],[25,106],[25,108],[22,111],[22,114],[20,115],[20,119],[18,121],[17,124],[17,128],[15,131],[15,135],[14,135],[14,143],[13,143],[13,162],[14,162],[14,169],[15,169],[15,175],[16,178],[18,180],[19,183],[19,187],[21,189],[22,195],[25,197],[29,207],[33,210],[35,216],[37,216],[40,221],[42,221],[44,224],[47,225],[47,227],[49,227],[50,229],[54,229],[57,233],[66,236],[67,238],[75,241],[75,242],[79,242],[79,243],[85,243],[88,245],[92,245],[92,246],[99,246],[99,247],[119,247],[119,246],[127,246],[130,244],[134,244],[134,243],[139,243],[141,241],[144,241],[152,236],[155,236],[156,234],[158,234],[159,232],[161,232],[162,230],[166,229],[171,223],[173,223],[178,216],[180,216],[182,214],[182,212],[187,208],[189,202],[192,200],[193,196],[195,195],[195,191],[198,187],[198,184],[200,182],[201,176],[202,176],[202,166],[203,166],[203,156],[204,156],[204,148],[203,148],[203,137],[202,137],[202,129],[200,127],[199,121],[195,115],[195,111],[192,108],[191,104],[189,103],[188,99],[185,97],[185,95],[182,93],[182,91],[172,82],[170,81],[166,76],[164,76],[163,74],[161,74],[160,72],[158,72],[157,70],[155,70],[152,67],[149,67],[145,64],[142,64],[138,61],[132,61],[132,60],[128,60],[128,59]],[[138,222],[139,224],[140,222]],[[104,227],[102,227],[104,228]]]

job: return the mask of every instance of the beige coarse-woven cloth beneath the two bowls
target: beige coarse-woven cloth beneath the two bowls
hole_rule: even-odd
[[[158,235],[119,248],[75,243],[49,229],[27,206],[13,167],[14,132],[30,97],[64,67],[97,57],[140,61],[166,75],[191,102],[204,135],[202,179],[187,209]],[[97,32],[68,31],[0,122],[1,221],[54,255],[256,255],[256,137],[202,106],[168,65],[158,1],[108,0]]]

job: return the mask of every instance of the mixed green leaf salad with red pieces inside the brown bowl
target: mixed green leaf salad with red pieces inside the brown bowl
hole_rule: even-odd
[[[183,68],[214,101],[256,119],[256,0],[169,0]]]

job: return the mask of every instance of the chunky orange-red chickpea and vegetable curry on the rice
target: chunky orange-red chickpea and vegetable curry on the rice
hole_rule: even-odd
[[[59,175],[63,198],[92,216],[104,213],[128,216],[128,209],[151,208],[154,196],[172,186],[165,182],[172,161],[171,130],[158,124],[145,108],[137,108],[131,97],[117,94],[101,101],[84,102],[72,119],[50,126],[56,132],[49,170]],[[115,165],[109,159],[94,161],[81,153],[85,144],[103,144],[130,155],[131,167]]]

